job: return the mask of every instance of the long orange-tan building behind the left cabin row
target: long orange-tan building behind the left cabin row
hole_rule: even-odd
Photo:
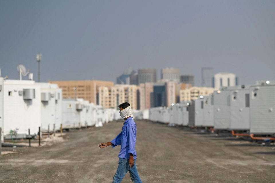
[[[78,81],[49,81],[49,83],[56,83],[62,88],[63,98],[83,98],[89,100],[94,104],[98,104],[98,89],[101,86],[111,87],[114,85],[111,81],[99,80],[78,80]],[[76,90],[74,90],[74,87]]]

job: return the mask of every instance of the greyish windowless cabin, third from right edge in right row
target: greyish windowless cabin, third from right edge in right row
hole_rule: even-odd
[[[230,128],[230,92],[227,87],[221,87],[213,93],[215,129]]]

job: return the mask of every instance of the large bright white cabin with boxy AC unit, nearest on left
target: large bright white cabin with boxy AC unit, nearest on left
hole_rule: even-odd
[[[17,132],[18,138],[38,134],[41,126],[40,85],[32,80],[1,80],[3,95],[3,135],[10,130]],[[13,136],[14,137],[14,136]]]

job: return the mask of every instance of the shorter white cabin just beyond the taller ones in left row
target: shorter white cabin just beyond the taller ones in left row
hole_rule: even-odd
[[[74,129],[81,127],[80,113],[83,110],[83,104],[76,99],[62,100],[62,128]]]

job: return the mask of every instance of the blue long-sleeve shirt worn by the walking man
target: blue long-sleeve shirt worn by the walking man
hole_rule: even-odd
[[[110,141],[114,148],[120,145],[120,151],[118,157],[129,159],[130,154],[133,154],[133,159],[137,158],[137,152],[135,151],[135,138],[136,138],[137,126],[133,120],[133,117],[129,117],[123,123],[122,131]]]

